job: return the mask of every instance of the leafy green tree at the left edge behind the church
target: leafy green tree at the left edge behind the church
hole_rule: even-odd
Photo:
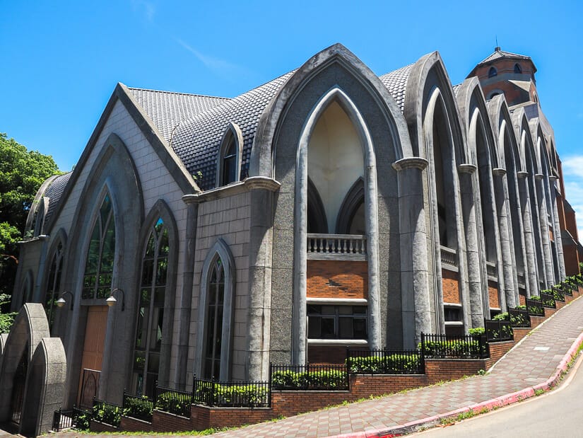
[[[0,294],[11,294],[30,205],[40,185],[59,172],[52,156],[28,151],[0,132]],[[5,301],[5,300],[4,300]]]

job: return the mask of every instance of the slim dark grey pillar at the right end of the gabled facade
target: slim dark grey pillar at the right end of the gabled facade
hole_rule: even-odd
[[[176,386],[184,390],[187,384],[188,347],[190,340],[190,318],[192,310],[192,284],[194,280],[194,253],[196,252],[196,228],[199,221],[199,195],[184,195],[182,201],[187,204],[186,250],[182,276],[182,294],[180,303],[175,306],[179,314],[178,350],[176,359]],[[197,346],[202,348],[201,345]]]

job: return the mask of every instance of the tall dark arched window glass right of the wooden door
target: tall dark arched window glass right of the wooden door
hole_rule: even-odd
[[[152,227],[143,255],[134,351],[132,386],[146,396],[153,396],[160,371],[169,252],[168,229],[160,218]]]

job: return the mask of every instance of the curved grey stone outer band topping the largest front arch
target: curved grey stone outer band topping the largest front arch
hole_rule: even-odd
[[[355,76],[363,79],[377,96],[379,96],[382,103],[387,106],[388,113],[393,118],[394,125],[399,134],[401,151],[396,151],[396,156],[399,158],[413,156],[406,122],[387,87],[384,86],[379,77],[376,76],[360,59],[358,59],[355,54],[340,43],[336,43],[321,52],[314,54],[314,56],[308,59],[302,67],[295,71],[261,114],[253,141],[249,175],[272,176],[271,173],[273,166],[271,162],[271,145],[273,144],[273,139],[281,115],[283,115],[285,108],[287,108],[293,100],[297,91],[301,89],[307,81],[310,81],[314,74],[317,74],[318,71],[324,69],[324,67],[328,66],[331,62],[340,62],[343,64],[343,66],[352,71]]]

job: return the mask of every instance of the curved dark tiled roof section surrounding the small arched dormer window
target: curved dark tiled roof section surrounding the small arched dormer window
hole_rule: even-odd
[[[243,134],[240,177],[247,177],[251,146],[259,117],[293,73],[294,71],[290,71],[180,123],[172,137],[172,148],[192,175],[202,173],[202,177],[196,180],[202,190],[214,188],[216,185],[218,148],[229,122],[236,123]]]

